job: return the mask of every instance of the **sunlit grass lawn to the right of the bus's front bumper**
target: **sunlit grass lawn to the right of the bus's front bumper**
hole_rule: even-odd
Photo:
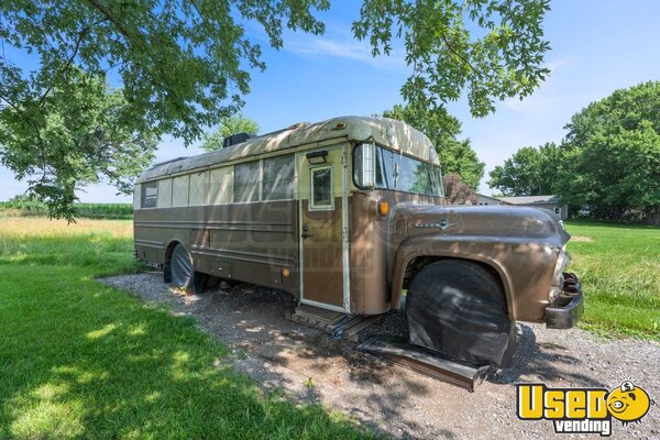
[[[582,327],[660,340],[660,229],[568,222],[571,271],[582,277]]]

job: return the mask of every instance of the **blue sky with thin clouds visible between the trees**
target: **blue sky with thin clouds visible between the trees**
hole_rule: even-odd
[[[319,14],[326,34],[285,34],[285,46],[268,47],[265,34],[248,24],[248,34],[260,42],[267,69],[253,72],[252,92],[243,113],[256,120],[262,132],[293,123],[316,122],[342,116],[369,116],[400,103],[399,88],[409,69],[400,45],[391,57],[373,58],[364,42],[352,38],[351,23],[359,1],[332,1]],[[551,51],[546,61],[550,77],[531,96],[520,101],[497,103],[497,111],[474,119],[464,101],[449,106],[463,124],[486,175],[480,191],[491,194],[487,172],[516,150],[544,142],[560,142],[571,116],[592,101],[647,80],[660,80],[660,1],[656,0],[556,0],[543,28]],[[183,142],[165,139],[156,161],[200,153]],[[23,193],[26,185],[0,167],[0,200]],[[129,201],[107,185],[80,193],[82,201]]]

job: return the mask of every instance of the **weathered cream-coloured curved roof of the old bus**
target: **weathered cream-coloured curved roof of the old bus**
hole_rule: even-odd
[[[318,123],[298,123],[215,152],[167,161],[146,169],[135,183],[204,169],[263,153],[305,145],[312,146],[329,140],[373,141],[404,154],[440,164],[431,141],[424,133],[402,121],[376,117],[339,117]]]

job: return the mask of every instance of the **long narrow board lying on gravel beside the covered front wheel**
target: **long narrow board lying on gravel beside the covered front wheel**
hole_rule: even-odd
[[[373,337],[358,350],[382,356],[417,373],[466,388],[471,393],[486,377],[490,365],[471,366],[450,361],[421,346],[413,345],[402,338]]]

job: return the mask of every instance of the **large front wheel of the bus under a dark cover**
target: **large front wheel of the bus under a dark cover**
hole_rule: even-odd
[[[472,365],[510,366],[514,322],[499,279],[480,264],[444,260],[422,268],[406,296],[410,342]]]

